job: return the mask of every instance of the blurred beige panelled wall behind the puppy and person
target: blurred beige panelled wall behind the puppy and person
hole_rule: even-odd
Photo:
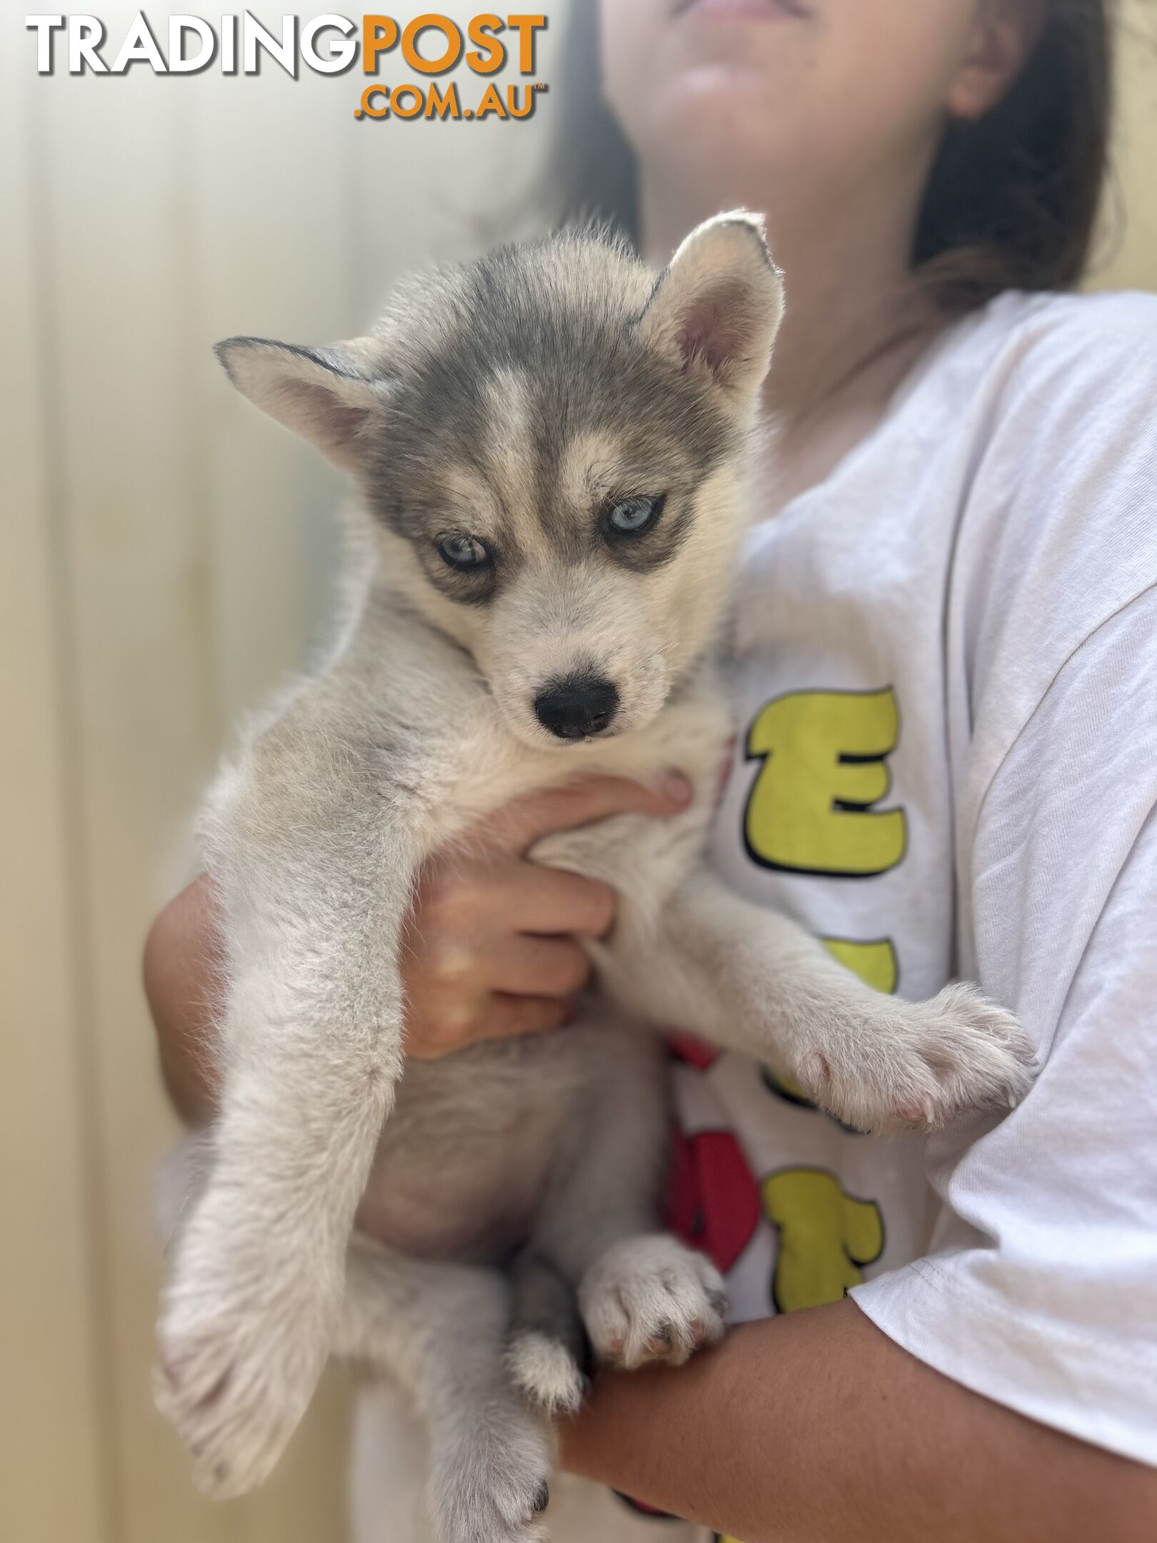
[[[355,127],[346,77],[42,80],[19,9],[0,22],[0,1537],[333,1543],[336,1384],[270,1489],[225,1509],[191,1495],[148,1393],[150,1176],[173,1123],[140,940],[225,727],[316,626],[313,511],[335,492],[238,409],[208,344],[347,335],[545,130]],[[1103,281],[1157,287],[1157,54],[1131,42],[1123,80],[1129,222]]]

